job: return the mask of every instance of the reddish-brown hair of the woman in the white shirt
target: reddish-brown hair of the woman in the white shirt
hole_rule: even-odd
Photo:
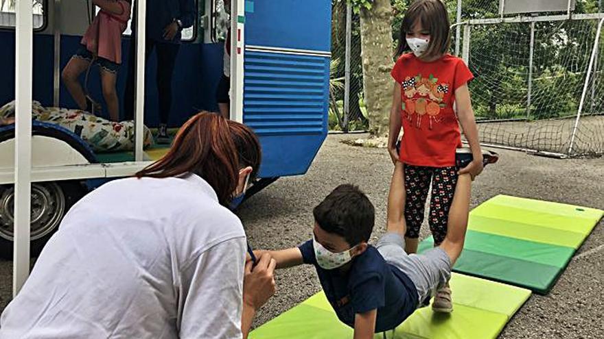
[[[249,127],[219,114],[200,112],[181,127],[172,149],[136,177],[165,178],[195,173],[216,191],[220,204],[228,206],[237,188],[240,169],[251,166],[253,179],[260,160],[260,143]]]

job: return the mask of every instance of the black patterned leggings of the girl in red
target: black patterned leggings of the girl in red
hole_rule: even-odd
[[[445,240],[447,235],[449,208],[457,185],[457,168],[456,166],[424,167],[405,164],[407,192],[405,204],[407,233],[405,236],[407,238],[419,238],[430,182],[432,183],[432,199],[430,199],[428,224],[434,237],[434,245],[437,246]]]

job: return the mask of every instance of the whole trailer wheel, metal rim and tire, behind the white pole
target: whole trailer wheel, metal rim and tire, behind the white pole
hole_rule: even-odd
[[[86,194],[80,181],[32,183],[30,254],[37,257],[69,208]],[[14,238],[14,185],[0,185],[0,257],[11,259]]]

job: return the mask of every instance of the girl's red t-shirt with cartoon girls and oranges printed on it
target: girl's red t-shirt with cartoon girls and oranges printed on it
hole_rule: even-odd
[[[474,79],[465,62],[450,54],[423,62],[407,53],[397,60],[391,75],[401,84],[400,160],[415,166],[455,166],[461,133],[453,110],[454,93]]]

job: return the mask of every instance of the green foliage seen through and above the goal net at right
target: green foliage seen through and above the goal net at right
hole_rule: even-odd
[[[575,13],[585,12],[597,12],[597,0],[577,1]],[[464,20],[497,17],[497,3],[485,8],[484,1],[464,0],[463,16]],[[585,77],[583,66],[577,67],[588,63],[595,34],[595,26],[586,25],[537,23],[530,116],[526,108],[530,25],[473,27],[470,67],[477,80],[469,88],[476,116],[544,119],[575,114]]]

